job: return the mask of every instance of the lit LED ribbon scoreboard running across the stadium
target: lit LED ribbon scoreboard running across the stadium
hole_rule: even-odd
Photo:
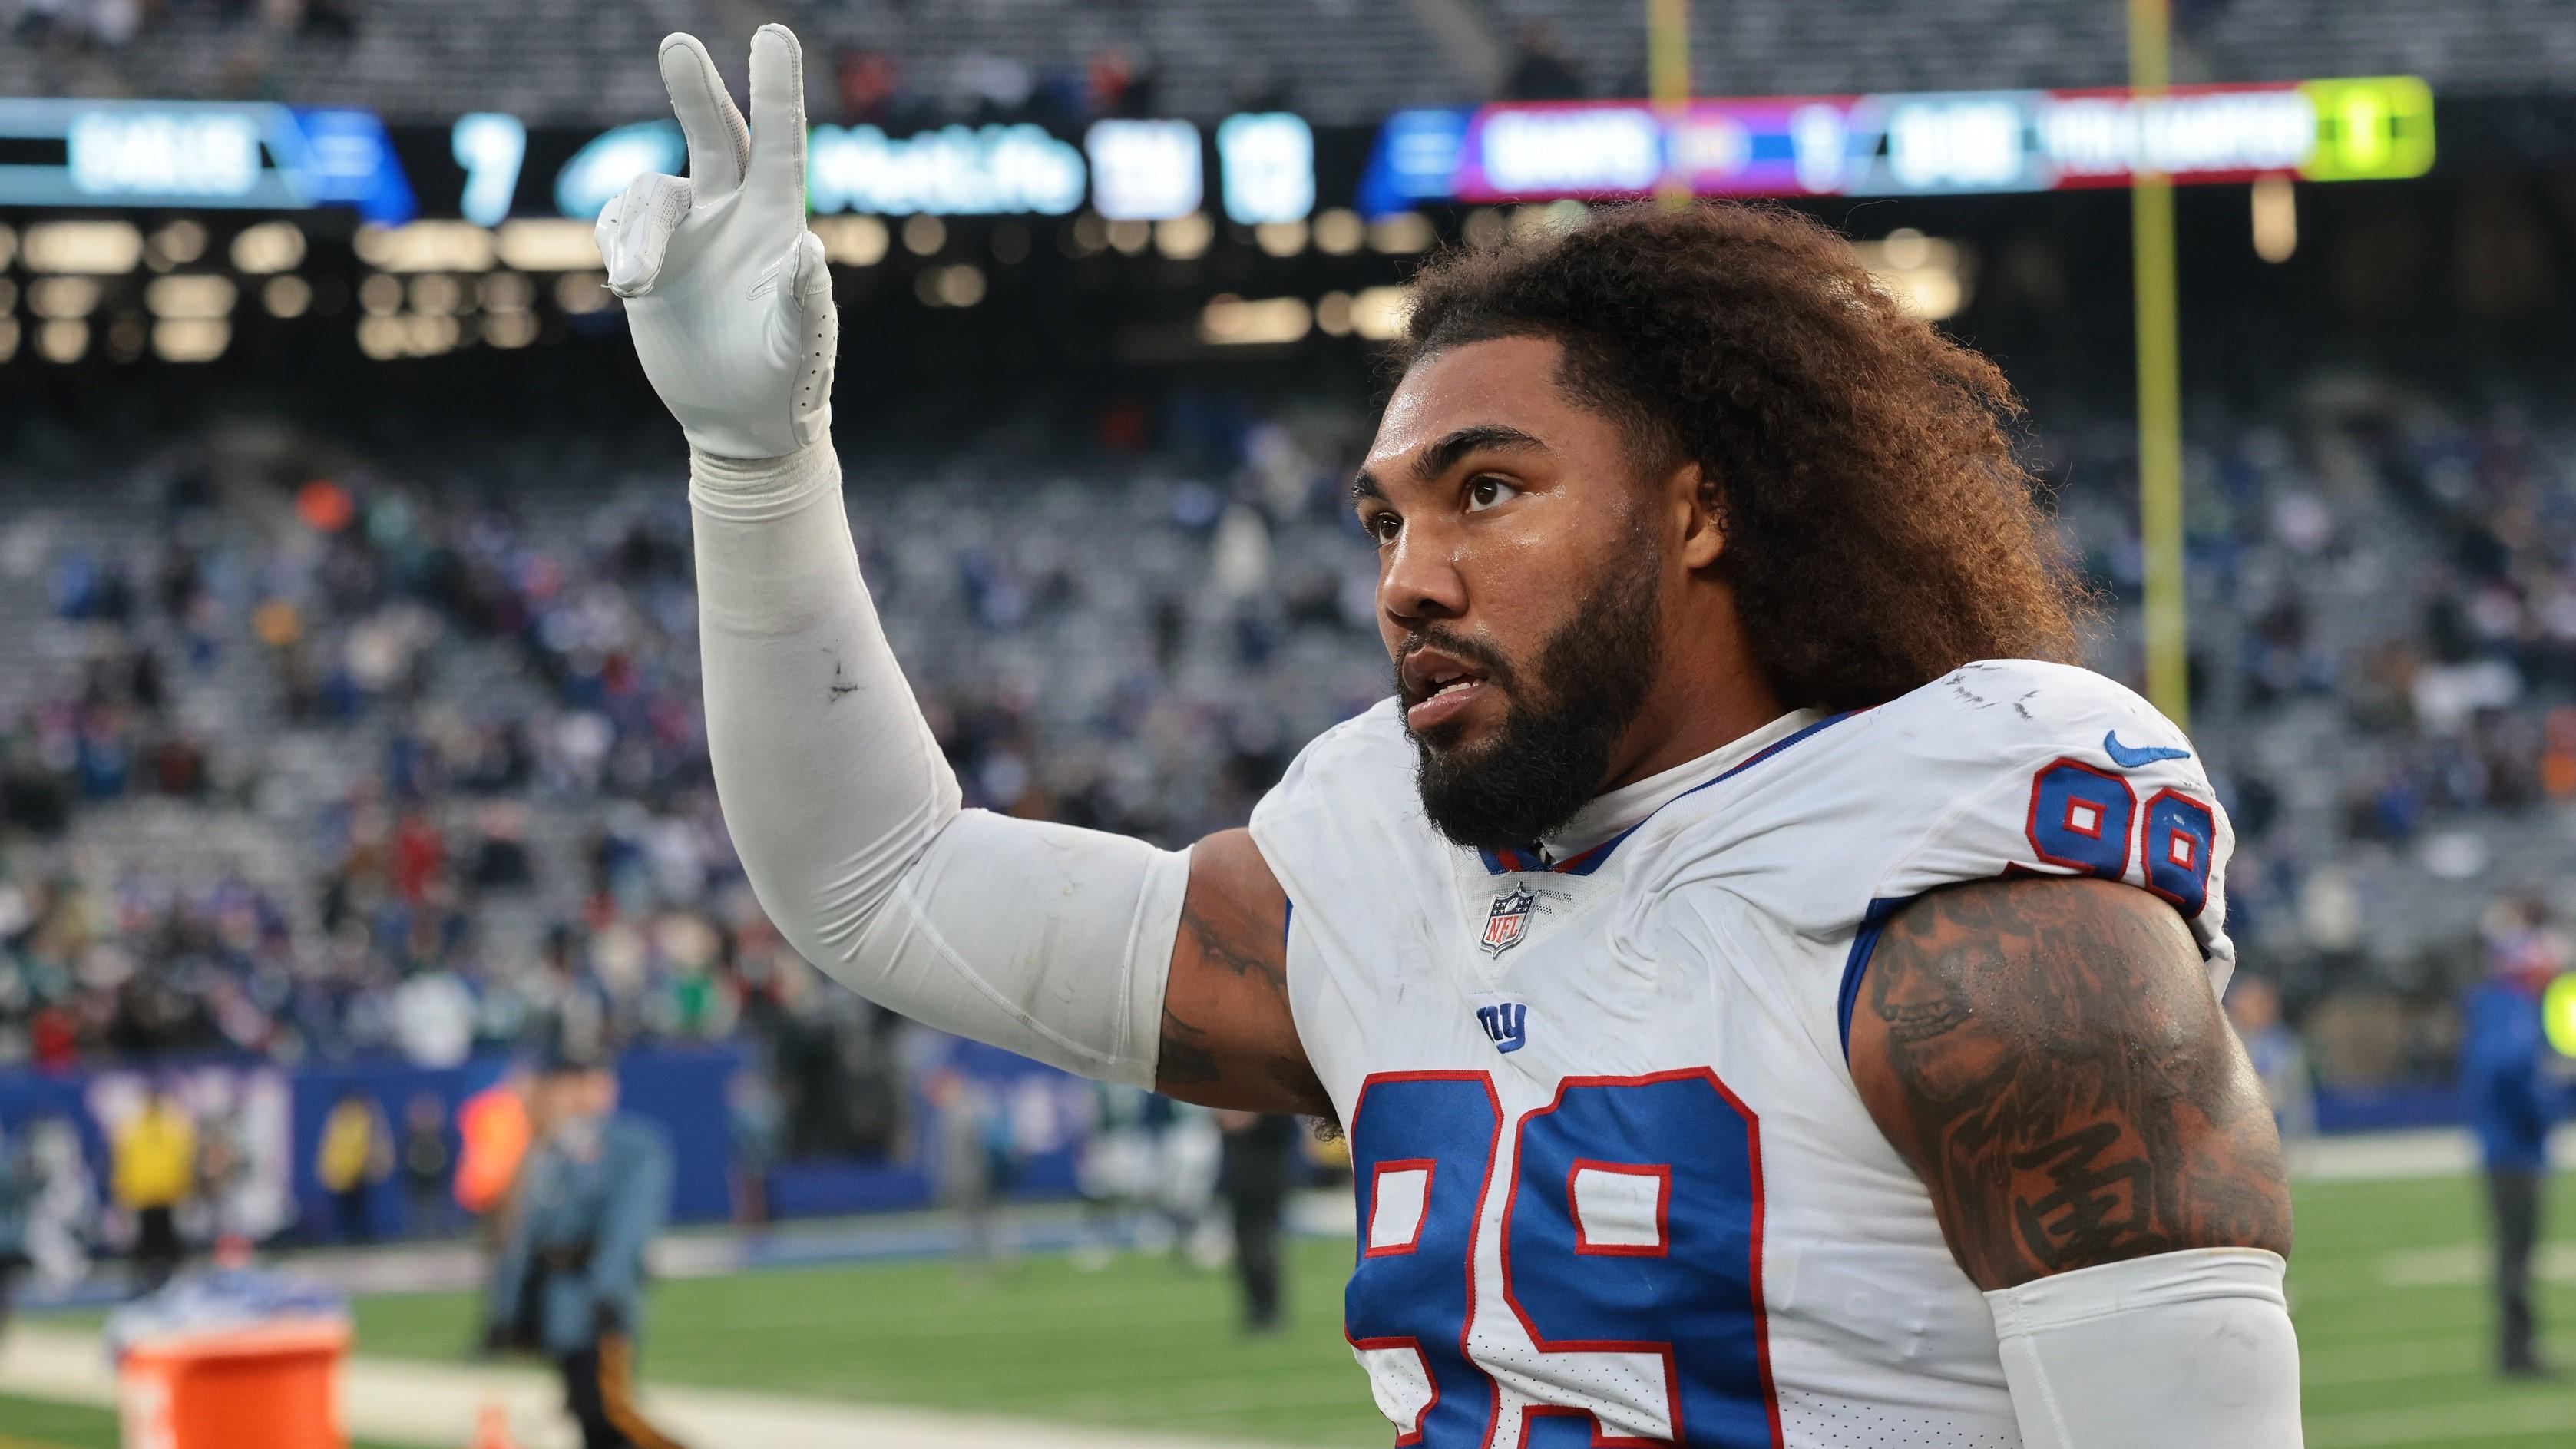
[[[1958,196],[2174,180],[2424,175],[2432,90],[2414,77],[2128,90],[1494,103],[1396,111],[1334,139],[1365,152],[1332,188],[1363,217],[1427,204],[1649,196]],[[355,209],[495,227],[590,219],[641,173],[685,162],[672,121],[531,131],[495,111],[435,134],[371,111],[219,101],[0,101],[0,206]],[[1038,124],[814,126],[817,214],[1162,222],[1213,196],[1229,222],[1316,211],[1316,129],[1293,113]],[[544,165],[538,165],[544,160]],[[415,186],[417,178],[417,186]],[[1213,178],[1213,183],[1211,183]]]

